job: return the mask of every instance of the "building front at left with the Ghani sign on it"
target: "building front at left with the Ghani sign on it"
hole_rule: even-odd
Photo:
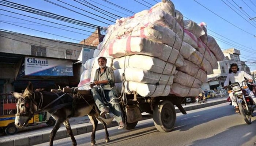
[[[46,90],[76,87],[79,55],[97,47],[0,31],[0,93],[24,90],[29,81]],[[93,58],[93,56],[88,59]]]

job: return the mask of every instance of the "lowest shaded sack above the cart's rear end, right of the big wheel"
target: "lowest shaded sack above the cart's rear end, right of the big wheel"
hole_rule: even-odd
[[[174,94],[178,97],[196,97],[198,96],[203,90],[201,88],[190,88],[187,86],[182,86],[174,82],[172,84],[172,88],[170,94]]]

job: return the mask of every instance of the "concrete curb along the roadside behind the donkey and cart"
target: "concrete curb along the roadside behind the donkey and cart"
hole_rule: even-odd
[[[191,110],[196,110],[199,108],[204,108],[204,107],[210,107],[213,105],[217,105],[217,104],[222,104],[222,103],[226,103],[227,100],[223,99],[223,100],[219,100],[219,101],[215,101],[215,102],[210,102],[210,103],[204,103],[204,104],[197,104],[197,105],[192,105],[192,106],[188,106],[188,107],[183,107],[185,111],[191,111]],[[180,110],[178,108],[176,108],[176,113],[179,113]],[[146,119],[151,119],[152,116],[143,116],[143,120]],[[107,125],[107,127],[114,127],[114,126],[118,126],[116,121],[112,121],[111,124]],[[93,125],[86,125],[86,126],[76,126],[73,125],[74,128],[72,128],[73,134],[75,135],[79,135],[79,134],[84,134],[84,133],[88,133],[88,132],[92,132],[93,130]],[[97,130],[101,130],[104,129],[103,128],[103,124],[99,122],[98,126],[97,126]],[[7,140],[4,142],[1,142],[1,145],[5,145],[5,146],[32,146],[32,145],[37,145],[37,144],[41,144],[44,142],[49,142],[50,138],[49,138],[49,133],[44,133],[44,134],[37,134],[37,135],[33,135],[33,136],[29,136],[29,137],[23,137],[23,138],[17,138],[17,139],[13,139],[13,140]],[[59,129],[56,133],[56,136],[54,138],[54,140],[57,139],[62,139],[62,138],[67,138],[69,137],[67,131],[65,128],[63,129]]]

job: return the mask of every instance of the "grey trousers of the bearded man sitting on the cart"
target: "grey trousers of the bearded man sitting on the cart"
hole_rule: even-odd
[[[123,122],[123,113],[121,111],[120,104],[115,104],[118,102],[117,99],[112,100],[112,102],[114,102],[114,103],[111,103],[111,104],[107,103],[107,101],[110,101],[110,99],[117,97],[117,94],[114,91],[104,90],[105,97],[106,97],[107,101],[105,101],[105,98],[103,97],[103,95],[101,96],[100,88],[97,88],[97,87],[92,88],[91,93],[92,93],[93,99],[100,111],[103,111],[104,108],[106,108],[106,106],[109,106],[110,112],[112,112],[112,114],[114,115],[116,122],[117,123]],[[106,104],[104,103],[104,101],[106,102]]]

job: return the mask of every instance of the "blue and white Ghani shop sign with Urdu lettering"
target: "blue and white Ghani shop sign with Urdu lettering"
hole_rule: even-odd
[[[25,76],[73,76],[69,60],[25,57]]]

